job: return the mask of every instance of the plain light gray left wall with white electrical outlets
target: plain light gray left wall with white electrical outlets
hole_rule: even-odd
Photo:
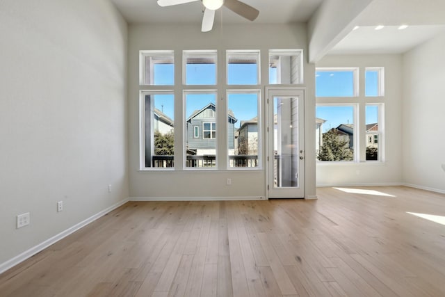
[[[3,0],[0,51],[1,270],[128,198],[127,24],[107,0]]]

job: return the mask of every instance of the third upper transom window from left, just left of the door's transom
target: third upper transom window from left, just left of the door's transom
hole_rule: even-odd
[[[227,51],[227,84],[259,84],[259,50]]]

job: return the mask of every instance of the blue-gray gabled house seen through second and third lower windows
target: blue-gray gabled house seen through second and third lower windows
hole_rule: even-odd
[[[229,150],[234,151],[234,124],[238,121],[232,111],[227,118]],[[216,154],[216,106],[208,104],[196,110],[187,119],[187,153],[197,155]]]

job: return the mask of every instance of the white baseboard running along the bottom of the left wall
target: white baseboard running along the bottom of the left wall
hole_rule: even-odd
[[[108,207],[104,209],[103,211],[100,211],[99,213],[95,214],[94,216],[90,216],[90,218],[87,218],[86,220],[81,221],[80,223],[77,223],[76,225],[68,228],[67,230],[60,232],[59,234],[52,236],[50,239],[47,239],[43,241],[42,243],[39,243],[37,246],[34,246],[33,248],[30,248],[29,250],[26,250],[22,252],[22,254],[17,255],[13,257],[13,259],[9,259],[6,262],[3,262],[0,264],[0,273],[3,273],[7,271],[9,268],[12,268],[13,266],[24,262],[24,260],[28,259],[29,257],[32,257],[33,255],[37,254],[38,252],[41,252],[45,248],[51,246],[52,244],[56,243],[57,241],[60,241],[60,239],[65,238],[66,236],[76,232],[77,230],[81,229],[81,227],[84,227],[88,225],[89,223],[92,223],[93,221],[97,220],[98,218],[104,216],[105,214],[108,214],[110,211],[113,211],[114,209],[117,209],[122,204],[127,203],[129,200],[122,200],[121,202],[118,202],[111,207]]]

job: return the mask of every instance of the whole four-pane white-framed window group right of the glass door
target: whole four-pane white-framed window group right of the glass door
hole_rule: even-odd
[[[383,161],[383,70],[364,67],[360,94],[358,67],[316,68],[318,161]]]

